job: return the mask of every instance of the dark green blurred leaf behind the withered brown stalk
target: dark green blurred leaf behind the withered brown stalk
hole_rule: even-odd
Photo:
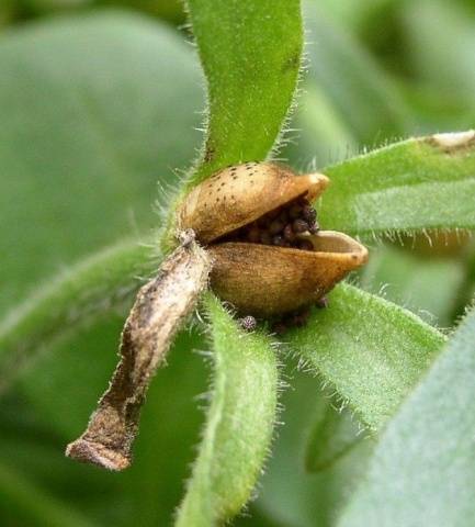
[[[204,346],[197,332],[182,332],[157,372],[127,471],[117,478],[64,456],[114,370],[123,318],[99,321],[38,358],[15,396],[10,392],[0,402],[0,449],[36,486],[98,525],[170,525],[203,422],[195,397],[206,389],[206,370],[192,351]]]

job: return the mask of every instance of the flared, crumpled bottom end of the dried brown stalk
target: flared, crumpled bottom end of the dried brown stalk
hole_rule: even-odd
[[[116,472],[126,469],[131,464],[131,459],[122,452],[112,450],[100,442],[82,438],[67,446],[66,457],[82,461],[83,463],[97,464],[103,469]]]

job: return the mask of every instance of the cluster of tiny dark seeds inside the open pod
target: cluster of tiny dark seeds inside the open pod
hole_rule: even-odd
[[[297,198],[241,227],[233,239],[314,250],[312,243],[299,235],[316,234],[318,229],[317,212],[305,198]]]

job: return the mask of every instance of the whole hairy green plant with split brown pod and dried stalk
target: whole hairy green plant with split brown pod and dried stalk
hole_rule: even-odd
[[[291,357],[309,370],[315,393],[323,383],[329,394],[307,441],[308,471],[323,470],[362,444],[367,456],[375,449],[367,480],[341,525],[470,525],[470,490],[459,496],[463,506],[437,509],[439,524],[431,504],[444,489],[464,485],[465,469],[450,468],[452,461],[475,464],[473,419],[468,407],[461,411],[474,391],[473,312],[449,337],[417,314],[341,280],[366,262],[366,247],[371,260],[384,237],[475,228],[475,132],[412,137],[297,176],[301,170],[280,164],[279,148],[305,76],[301,2],[188,0],[186,8],[207,87],[200,155],[172,188],[160,188],[155,236],[124,239],[89,257],[3,321],[2,393],[20,382],[39,351],[52,348],[54,355],[58,341],[90,321],[123,313],[136,298],[122,332],[121,362],[68,456],[127,468],[156,369],[169,348],[172,360],[177,339],[183,352],[201,338],[213,363],[212,389],[174,525],[222,525],[252,498],[272,457],[283,363]],[[186,340],[179,333],[184,328],[204,340],[203,335]],[[196,359],[192,367],[199,368]],[[160,382],[161,370],[151,390]],[[168,388],[167,418],[177,422],[179,436],[180,385]],[[459,401],[456,416],[452,399]],[[333,405],[342,412],[335,413]],[[457,426],[464,419],[466,434],[465,425]],[[441,452],[448,483],[439,487],[429,481],[438,474],[417,470],[433,436],[442,450],[443,441],[450,444],[450,451]],[[145,440],[154,450],[160,427]],[[140,463],[140,452],[134,458]],[[185,471],[185,460],[179,461]]]

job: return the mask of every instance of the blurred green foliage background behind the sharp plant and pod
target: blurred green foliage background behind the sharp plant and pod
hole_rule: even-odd
[[[147,238],[156,200],[200,147],[204,81],[179,2],[0,1],[7,316],[82,257]],[[393,139],[475,127],[475,1],[308,0],[304,12],[306,70],[279,158],[321,168]],[[463,233],[431,238],[369,240],[371,262],[357,280],[450,328],[475,292],[475,253]],[[172,524],[206,404],[197,330],[180,336],[152,384],[129,470],[104,473],[63,456],[114,368],[124,314],[12,365],[22,372],[0,400],[0,525]],[[287,362],[285,425],[259,497],[235,525],[335,525],[364,472],[370,441],[305,472],[327,403]]]

